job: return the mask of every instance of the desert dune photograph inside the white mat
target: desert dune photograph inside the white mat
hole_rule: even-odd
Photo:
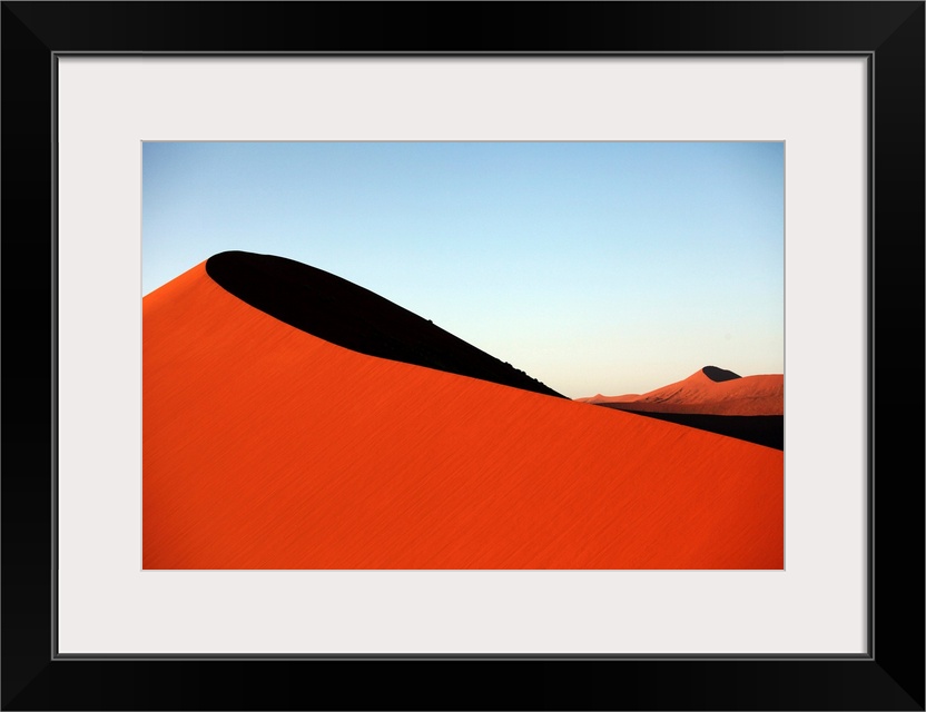
[[[782,570],[784,141],[145,141],[145,570]]]

